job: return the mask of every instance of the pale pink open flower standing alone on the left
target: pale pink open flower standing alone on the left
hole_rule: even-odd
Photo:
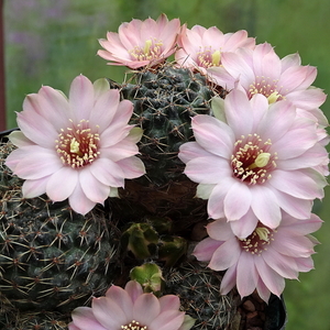
[[[141,131],[128,124],[132,112],[132,102],[120,101],[106,79],[91,84],[76,77],[68,99],[48,86],[28,95],[18,113],[21,131],[10,135],[18,148],[6,161],[25,179],[23,196],[68,198],[85,215],[124,187],[125,178],[143,175],[144,165],[134,156]]]

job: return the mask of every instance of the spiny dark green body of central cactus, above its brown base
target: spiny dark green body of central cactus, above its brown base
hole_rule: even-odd
[[[144,131],[139,148],[146,176],[138,180],[162,187],[180,179],[178,148],[194,140],[191,117],[211,113],[216,90],[200,74],[165,65],[136,74],[135,84],[123,84],[121,94],[134,103],[131,123]]]

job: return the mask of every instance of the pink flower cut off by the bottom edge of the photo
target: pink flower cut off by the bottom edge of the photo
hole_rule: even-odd
[[[141,285],[131,280],[125,288],[111,286],[105,297],[94,298],[90,307],[73,311],[69,330],[188,330],[191,322],[185,321],[179,311],[177,296],[156,298],[144,294]]]

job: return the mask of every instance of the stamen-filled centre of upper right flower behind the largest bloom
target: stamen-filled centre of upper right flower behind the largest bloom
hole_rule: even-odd
[[[271,79],[270,77],[255,77],[255,81],[250,85],[249,97],[252,98],[255,94],[262,94],[268,99],[268,103],[285,99],[280,94],[282,87],[277,86],[278,80]]]

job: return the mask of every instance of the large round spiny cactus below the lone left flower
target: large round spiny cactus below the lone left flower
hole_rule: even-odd
[[[23,310],[64,310],[102,295],[117,270],[118,230],[103,210],[86,216],[46,196],[25,199],[3,165],[1,145],[0,290]]]

